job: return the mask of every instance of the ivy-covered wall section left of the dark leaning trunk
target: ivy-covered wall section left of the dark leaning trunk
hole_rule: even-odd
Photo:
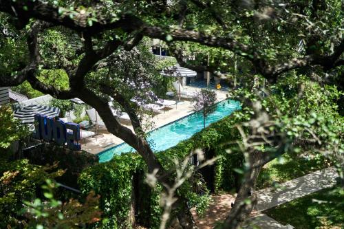
[[[110,162],[97,164],[83,171],[78,179],[80,190],[87,195],[94,190],[100,195],[103,228],[130,228],[133,214],[136,223],[156,228],[159,223],[159,190],[144,183],[145,166],[140,155],[116,155]],[[134,191],[134,187],[136,185]],[[140,208],[135,209],[136,206]]]

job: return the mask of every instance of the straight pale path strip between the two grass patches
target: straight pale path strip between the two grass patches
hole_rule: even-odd
[[[338,173],[333,166],[281,184],[282,188],[264,188],[257,191],[257,211],[263,211],[314,193],[336,184]]]

